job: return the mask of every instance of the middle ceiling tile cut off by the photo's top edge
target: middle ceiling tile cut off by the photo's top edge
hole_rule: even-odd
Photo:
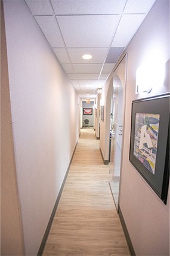
[[[123,10],[126,0],[51,0],[56,14],[113,14]]]

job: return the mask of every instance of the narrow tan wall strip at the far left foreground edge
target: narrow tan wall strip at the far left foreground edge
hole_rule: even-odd
[[[1,255],[24,255],[2,5],[1,2]]]

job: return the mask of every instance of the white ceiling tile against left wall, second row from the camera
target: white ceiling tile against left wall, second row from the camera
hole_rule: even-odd
[[[63,47],[64,43],[61,37],[60,31],[57,26],[57,21],[53,16],[35,16],[38,25],[40,26],[42,32],[47,38],[51,47]]]

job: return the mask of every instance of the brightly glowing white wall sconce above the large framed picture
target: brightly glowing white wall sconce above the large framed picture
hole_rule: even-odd
[[[147,92],[149,94],[153,87],[163,85],[164,77],[165,67],[163,64],[150,63],[141,65],[136,71],[135,94],[139,94],[140,92]]]

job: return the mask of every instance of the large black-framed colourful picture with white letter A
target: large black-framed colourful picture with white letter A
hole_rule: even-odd
[[[150,141],[152,145],[149,146]],[[166,204],[169,185],[169,93],[132,101],[129,161]]]

